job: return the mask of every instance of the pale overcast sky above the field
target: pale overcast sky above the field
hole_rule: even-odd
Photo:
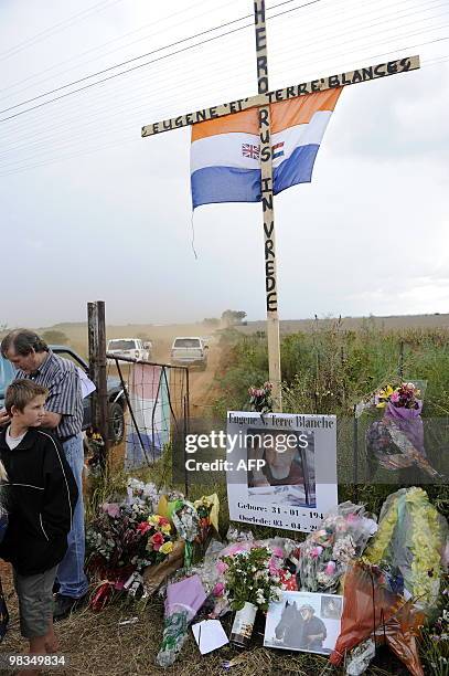
[[[268,17],[289,10],[267,23],[271,89],[398,55],[423,67],[345,87],[312,183],[276,198],[280,318],[449,311],[448,2],[304,4],[267,2]],[[201,207],[192,226],[190,130],[140,138],[142,125],[257,93],[250,17],[185,41],[252,11],[1,1],[0,325],[84,320],[95,299],[109,324],[265,317],[260,204]]]

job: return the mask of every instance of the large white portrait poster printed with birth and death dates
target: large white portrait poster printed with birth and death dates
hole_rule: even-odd
[[[310,532],[336,507],[334,415],[227,413],[229,519]]]

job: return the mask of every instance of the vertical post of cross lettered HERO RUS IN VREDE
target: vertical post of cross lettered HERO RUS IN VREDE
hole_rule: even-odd
[[[256,31],[257,92],[266,94],[268,88],[267,29],[265,24],[265,0],[255,0],[254,21]],[[261,205],[264,213],[265,295],[267,308],[268,371],[272,382],[272,401],[276,411],[282,410],[280,340],[276,273],[275,208],[272,194],[272,157],[269,105],[258,109],[260,138]]]

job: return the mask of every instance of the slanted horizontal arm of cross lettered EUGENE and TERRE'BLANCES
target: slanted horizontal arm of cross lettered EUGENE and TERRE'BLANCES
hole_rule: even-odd
[[[387,75],[397,75],[398,73],[416,71],[417,68],[419,68],[419,56],[405,56],[403,59],[396,59],[395,61],[378,63],[376,65],[356,68],[355,71],[329,75],[328,77],[320,77],[310,82],[303,82],[298,85],[292,85],[291,87],[286,87],[285,89],[276,89],[275,92],[267,92],[266,94],[257,94],[256,96],[250,96],[248,98],[238,98],[237,101],[232,101],[231,103],[203,108],[202,110],[195,110],[194,113],[188,113],[186,115],[179,115],[178,117],[172,117],[171,119],[163,119],[162,122],[152,123],[142,127],[141,135],[142,137],[153,136],[154,134],[161,134],[162,131],[170,131],[171,129],[188,127],[189,125],[205,122],[206,119],[214,119],[216,117],[232,115],[233,113],[239,113],[240,110],[246,110],[247,108],[266,106],[270,103],[288,101],[289,98],[306,96],[307,94],[313,94],[314,92],[323,92],[324,89],[332,89],[350,84],[359,84],[360,82],[370,82],[379,77],[386,77]]]

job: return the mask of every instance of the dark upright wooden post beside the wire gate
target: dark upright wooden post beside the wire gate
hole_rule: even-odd
[[[105,467],[109,454],[109,420],[106,377],[106,323],[105,302],[87,304],[87,330],[89,344],[89,377],[96,391],[92,399],[92,420],[94,427],[101,434],[105,445],[100,457]]]

